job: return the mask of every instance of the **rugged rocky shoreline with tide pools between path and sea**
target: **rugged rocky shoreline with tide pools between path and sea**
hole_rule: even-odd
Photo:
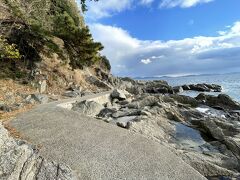
[[[165,81],[118,79],[110,101],[83,101],[72,110],[164,144],[208,179],[240,178],[240,104],[215,84],[171,87]]]

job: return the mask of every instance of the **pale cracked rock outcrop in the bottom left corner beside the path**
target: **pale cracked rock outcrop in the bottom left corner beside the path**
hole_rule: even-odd
[[[45,159],[36,149],[9,136],[0,124],[0,179],[77,180],[68,167]]]

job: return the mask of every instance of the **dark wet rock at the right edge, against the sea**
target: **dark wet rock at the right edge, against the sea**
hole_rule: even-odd
[[[226,110],[240,110],[240,104],[225,94],[219,94],[216,97],[201,93],[196,97],[196,100],[210,107],[218,106]]]

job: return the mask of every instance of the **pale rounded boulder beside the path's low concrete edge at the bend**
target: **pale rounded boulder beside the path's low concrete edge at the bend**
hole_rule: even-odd
[[[81,101],[73,104],[72,110],[80,112],[81,114],[87,116],[96,116],[104,109],[102,104],[99,104],[95,101]]]

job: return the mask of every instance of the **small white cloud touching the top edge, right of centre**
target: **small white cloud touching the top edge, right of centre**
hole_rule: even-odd
[[[181,7],[181,8],[189,8],[196,6],[198,4],[209,3],[214,0],[162,0],[160,3],[160,7]]]

